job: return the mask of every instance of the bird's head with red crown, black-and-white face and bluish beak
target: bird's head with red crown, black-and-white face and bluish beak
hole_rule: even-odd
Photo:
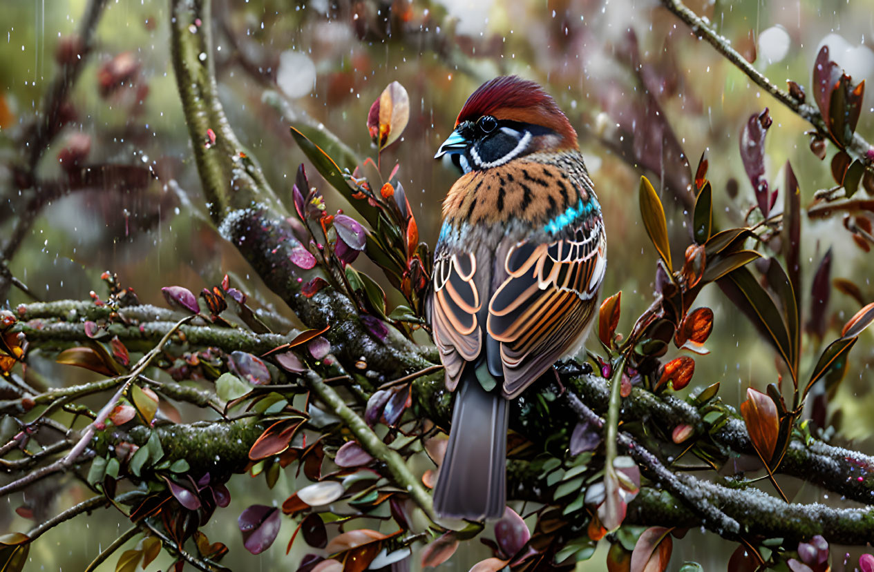
[[[482,84],[468,98],[435,159],[462,172],[490,169],[539,150],[577,149],[577,132],[548,93],[515,75]]]

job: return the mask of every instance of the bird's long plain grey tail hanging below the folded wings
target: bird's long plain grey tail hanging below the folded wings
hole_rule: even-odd
[[[486,391],[469,364],[455,396],[449,444],[434,488],[434,511],[443,518],[503,516],[507,504],[508,401]]]

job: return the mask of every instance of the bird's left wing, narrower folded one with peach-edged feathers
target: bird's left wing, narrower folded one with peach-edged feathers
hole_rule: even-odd
[[[468,252],[438,252],[434,260],[431,325],[434,342],[446,368],[447,389],[453,391],[465,362],[473,362],[482,348],[482,309],[477,261]]]

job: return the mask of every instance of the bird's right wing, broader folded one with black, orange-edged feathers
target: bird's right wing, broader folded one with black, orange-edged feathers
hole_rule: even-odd
[[[580,221],[571,238],[510,246],[487,323],[489,337],[501,342],[504,395],[517,396],[582,341],[606,267],[600,217]]]

